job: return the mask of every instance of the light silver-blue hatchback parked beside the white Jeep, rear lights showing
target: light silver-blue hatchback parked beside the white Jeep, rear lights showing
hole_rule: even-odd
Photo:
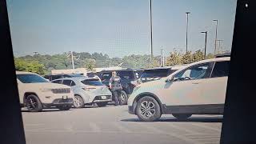
[[[111,101],[112,93],[97,78],[61,78],[52,81],[54,83],[71,86],[74,92],[74,107],[81,108],[85,104],[97,103],[98,106],[106,106]]]

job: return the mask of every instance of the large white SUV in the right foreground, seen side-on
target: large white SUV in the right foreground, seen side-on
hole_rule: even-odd
[[[165,79],[142,83],[128,100],[130,114],[156,121],[162,114],[223,114],[230,58],[194,62]]]

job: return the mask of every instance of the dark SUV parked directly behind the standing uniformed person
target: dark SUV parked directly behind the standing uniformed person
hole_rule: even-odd
[[[142,74],[142,70],[102,70],[96,73],[99,78],[102,79],[102,83],[109,86],[110,78],[112,77],[112,72],[115,71],[121,78],[122,92],[121,92],[121,102],[122,104],[127,104],[127,99],[129,95],[133,92],[134,87],[138,86],[138,78]]]

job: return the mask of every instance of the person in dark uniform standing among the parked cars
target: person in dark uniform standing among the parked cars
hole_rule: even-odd
[[[118,106],[121,104],[120,95],[122,90],[121,78],[114,71],[112,72],[112,77],[110,78],[110,90],[114,96],[114,105]]]

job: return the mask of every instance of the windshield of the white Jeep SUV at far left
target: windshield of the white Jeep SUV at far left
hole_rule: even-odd
[[[17,78],[22,83],[48,82],[46,78],[42,78],[37,74],[17,74]]]

